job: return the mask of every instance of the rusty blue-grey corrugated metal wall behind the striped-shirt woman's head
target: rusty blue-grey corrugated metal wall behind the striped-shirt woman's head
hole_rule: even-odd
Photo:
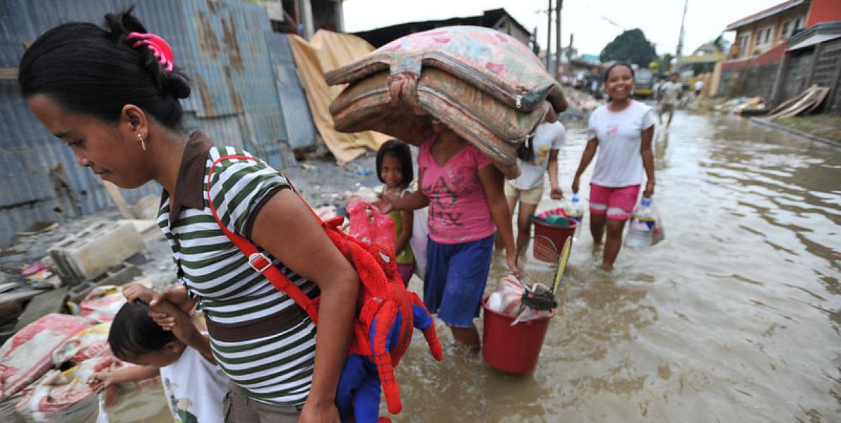
[[[271,24],[257,5],[238,0],[2,0],[0,67],[17,67],[24,43],[47,29],[70,21],[101,23],[105,13],[133,4],[146,28],[172,45],[176,65],[193,79],[193,94],[182,100],[188,127],[282,168],[286,119],[267,44]],[[273,49],[272,55],[277,52]],[[288,55],[284,63],[294,63],[288,48],[281,54]],[[305,105],[300,86],[298,90],[288,92]],[[296,99],[290,104],[299,108]],[[296,129],[305,126],[300,113],[289,119]],[[71,151],[34,118],[16,81],[0,81],[0,127],[0,245],[33,222],[61,221],[113,206],[98,177],[78,166]],[[123,193],[126,200],[137,201],[160,191],[149,183]]]

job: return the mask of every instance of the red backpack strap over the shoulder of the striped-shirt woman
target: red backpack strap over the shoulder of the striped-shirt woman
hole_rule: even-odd
[[[216,220],[216,223],[219,223],[219,226],[222,228],[222,232],[225,232],[225,235],[227,235],[227,237],[230,238],[230,241],[234,243],[236,248],[239,248],[243,254],[246,254],[246,257],[248,258],[248,264],[251,265],[251,269],[255,269],[257,270],[257,272],[262,273],[263,276],[265,276],[266,279],[268,279],[269,282],[271,282],[272,285],[274,285],[276,290],[282,290],[287,295],[289,295],[289,298],[292,298],[292,300],[294,300],[295,303],[298,304],[298,306],[300,306],[304,309],[304,311],[306,311],[307,316],[309,316],[309,319],[313,321],[313,324],[317,325],[318,306],[320,302],[320,297],[309,298],[309,296],[304,294],[304,291],[302,291],[297,285],[293,284],[292,281],[289,280],[289,278],[286,277],[286,275],[283,274],[283,272],[281,272],[277,266],[272,265],[272,261],[266,257],[266,254],[261,253],[260,250],[253,243],[251,243],[251,241],[248,240],[248,238],[242,237],[241,235],[237,235],[234,232],[231,232],[230,229],[228,229],[228,227],[226,227],[220,220],[219,215],[216,212],[216,207],[214,206],[213,201],[210,200],[210,181],[213,180],[213,171],[216,167],[216,164],[219,164],[222,160],[226,159],[244,159],[260,162],[259,159],[255,159],[244,154],[230,154],[222,156],[219,159],[216,159],[216,161],[214,161],[213,164],[210,164],[208,182],[205,190],[208,193],[208,204],[210,206],[210,211],[213,212],[213,217]],[[299,196],[301,201],[304,201],[304,204],[306,204],[304,197],[301,196],[298,190],[296,190],[292,183],[289,182],[288,178],[286,178],[286,175],[283,175],[283,173],[281,173],[281,175],[284,179],[287,180],[289,186],[292,187],[292,191],[294,191],[294,193]],[[312,211],[312,208],[310,208],[309,210]],[[323,226],[324,222],[322,222],[321,218],[318,217],[317,214],[315,214],[315,211],[313,211],[313,215]]]

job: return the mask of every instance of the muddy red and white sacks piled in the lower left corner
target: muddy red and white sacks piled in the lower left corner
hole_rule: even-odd
[[[76,316],[48,314],[3,343],[0,421],[108,421],[107,407],[115,405],[118,388],[98,395],[87,379],[103,369],[131,366],[108,347],[110,322],[124,303],[118,287],[103,285],[82,300]]]

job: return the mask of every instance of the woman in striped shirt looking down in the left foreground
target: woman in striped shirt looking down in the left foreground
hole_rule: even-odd
[[[214,357],[231,380],[226,421],[334,421],[336,384],[355,314],[358,279],[283,176],[246,154],[216,148],[182,129],[189,95],[166,42],[131,10],[105,29],[66,23],[26,50],[19,86],[29,107],[78,164],[103,180],[163,186],[157,222],[172,247],[182,287],[160,293],[208,320]],[[204,192],[209,181],[209,194]],[[304,311],[275,290],[225,237],[256,243],[308,295],[321,297],[318,335]],[[159,317],[164,325],[166,318]]]

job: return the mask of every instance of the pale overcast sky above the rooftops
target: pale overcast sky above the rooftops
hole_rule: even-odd
[[[557,0],[556,0],[557,1]],[[553,3],[555,3],[553,1]],[[782,0],[689,0],[684,55],[715,39],[727,23],[770,8]],[[529,31],[537,26],[538,43],[546,46],[547,0],[344,0],[347,32],[381,28],[397,23],[474,16],[505,8]],[[598,55],[624,29],[639,28],[656,44],[657,52],[674,53],[680,35],[683,0],[565,0],[561,9],[563,45],[579,54]],[[538,10],[543,12],[538,12]],[[725,34],[733,41],[733,32]],[[553,28],[553,50],[554,50]]]

